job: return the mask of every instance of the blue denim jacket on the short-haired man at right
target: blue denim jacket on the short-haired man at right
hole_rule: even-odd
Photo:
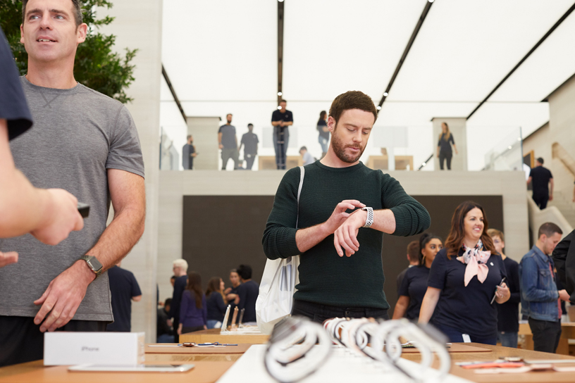
[[[557,299],[559,291],[555,284],[553,260],[537,246],[533,246],[519,263],[519,283],[521,285],[521,313],[536,320],[559,320]]]

